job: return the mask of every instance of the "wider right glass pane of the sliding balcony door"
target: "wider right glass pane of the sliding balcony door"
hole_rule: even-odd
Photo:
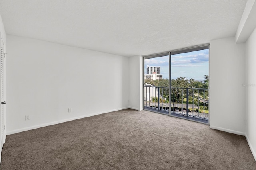
[[[209,49],[171,55],[171,112],[208,120]]]

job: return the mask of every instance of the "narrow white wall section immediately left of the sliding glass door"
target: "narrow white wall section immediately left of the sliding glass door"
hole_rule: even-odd
[[[130,108],[143,109],[143,57],[136,55],[129,58]]]

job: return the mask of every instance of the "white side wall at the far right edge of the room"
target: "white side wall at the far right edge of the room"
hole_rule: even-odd
[[[256,28],[246,41],[246,139],[256,160]]]

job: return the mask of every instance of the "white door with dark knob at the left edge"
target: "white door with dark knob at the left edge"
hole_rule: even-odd
[[[1,104],[0,104],[0,114],[1,114],[1,121],[0,121],[0,136],[1,136],[1,140],[0,140],[0,146],[1,146],[1,150],[2,150],[2,147],[3,147],[3,144],[5,142],[5,91],[4,91],[4,63],[5,63],[5,53],[4,53],[4,42],[1,38],[1,68],[0,68],[0,71],[1,71],[1,77],[0,77],[0,98],[1,98]]]

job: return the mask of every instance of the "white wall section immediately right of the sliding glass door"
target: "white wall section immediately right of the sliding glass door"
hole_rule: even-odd
[[[210,127],[245,135],[245,45],[210,42]]]

